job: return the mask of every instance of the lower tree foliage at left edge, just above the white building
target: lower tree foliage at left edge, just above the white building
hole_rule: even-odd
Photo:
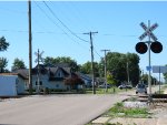
[[[6,70],[8,65],[8,60],[6,58],[0,58],[0,73],[4,73],[8,70]]]

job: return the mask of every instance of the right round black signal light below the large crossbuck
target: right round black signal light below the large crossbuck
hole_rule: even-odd
[[[156,41],[150,44],[150,50],[154,53],[160,53],[163,51],[163,45],[160,42]]]

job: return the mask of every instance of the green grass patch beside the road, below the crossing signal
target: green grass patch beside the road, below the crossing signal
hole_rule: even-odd
[[[127,108],[124,107],[124,103],[116,103],[105,115],[111,117],[143,117],[146,118],[150,114],[147,108]]]

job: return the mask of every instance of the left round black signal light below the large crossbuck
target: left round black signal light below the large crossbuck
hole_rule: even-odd
[[[138,42],[138,43],[136,44],[136,51],[137,51],[138,53],[140,53],[140,54],[146,53],[147,50],[148,50],[148,48],[147,48],[147,44],[146,44],[145,42]]]

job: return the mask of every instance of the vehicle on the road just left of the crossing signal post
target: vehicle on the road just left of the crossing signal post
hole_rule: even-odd
[[[143,83],[137,84],[136,86],[136,94],[147,94],[147,86]]]

